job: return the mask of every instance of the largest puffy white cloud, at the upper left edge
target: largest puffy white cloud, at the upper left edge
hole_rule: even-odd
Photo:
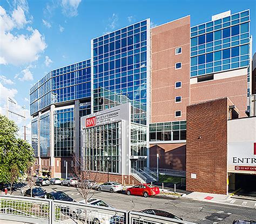
[[[14,28],[21,29],[28,23],[21,7],[12,12],[12,16],[0,6],[0,64],[21,65],[37,60],[44,51],[46,43],[38,30],[31,30],[31,35],[11,33]]]

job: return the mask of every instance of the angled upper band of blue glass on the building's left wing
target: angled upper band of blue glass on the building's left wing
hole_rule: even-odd
[[[30,114],[64,101],[91,97],[91,60],[49,72],[30,89]]]

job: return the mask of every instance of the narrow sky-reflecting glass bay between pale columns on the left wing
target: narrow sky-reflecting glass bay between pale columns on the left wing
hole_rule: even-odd
[[[50,157],[50,113],[40,117],[40,157]]]

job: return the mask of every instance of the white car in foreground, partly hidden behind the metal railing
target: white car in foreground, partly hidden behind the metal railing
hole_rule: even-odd
[[[78,203],[85,204],[85,200],[79,201]],[[87,200],[87,205],[95,205],[99,207],[105,208],[113,208],[110,205],[107,205],[106,202],[100,199],[91,198]],[[78,220],[87,221],[87,223],[105,223],[109,224],[110,216],[104,215],[103,213],[99,213],[97,210],[88,211],[88,209],[75,208],[72,209],[72,217]]]

